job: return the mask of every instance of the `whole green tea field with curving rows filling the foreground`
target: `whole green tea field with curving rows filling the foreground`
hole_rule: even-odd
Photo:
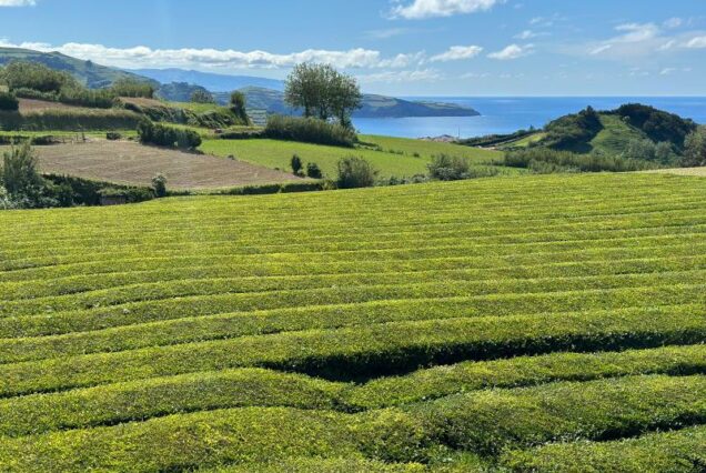
[[[706,180],[0,214],[0,470],[700,472]]]

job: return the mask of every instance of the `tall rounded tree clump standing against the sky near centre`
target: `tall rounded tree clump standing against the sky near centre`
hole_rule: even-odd
[[[336,119],[342,127],[352,125],[351,114],[361,108],[363,95],[354,78],[327,64],[299,64],[286,80],[284,99],[304,118]]]

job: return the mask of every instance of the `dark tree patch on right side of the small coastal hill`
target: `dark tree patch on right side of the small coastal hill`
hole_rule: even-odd
[[[686,137],[697,128],[692,120],[639,103],[622,105],[611,113],[622,117],[627,123],[644,131],[653,141],[669,142],[678,150],[684,149]]]

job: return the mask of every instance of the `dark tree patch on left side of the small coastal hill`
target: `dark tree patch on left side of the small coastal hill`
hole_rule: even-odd
[[[547,124],[544,143],[557,150],[574,150],[593,140],[602,129],[601,117],[588,107],[576,114],[562,117]]]

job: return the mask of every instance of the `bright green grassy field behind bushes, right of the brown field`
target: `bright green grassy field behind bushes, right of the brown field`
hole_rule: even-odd
[[[329,177],[335,175],[339,160],[350,155],[362,157],[373,163],[381,172],[381,178],[425,174],[432,155],[440,153],[466,157],[474,164],[488,164],[494,159],[502,158],[502,154],[494,151],[447,143],[369,135],[362,135],[360,139],[370,145],[379,145],[382,151],[278,140],[205,140],[201,150],[220,157],[233,155],[239,160],[282,170],[290,170],[292,155],[297,154],[304,163],[319,164]]]

